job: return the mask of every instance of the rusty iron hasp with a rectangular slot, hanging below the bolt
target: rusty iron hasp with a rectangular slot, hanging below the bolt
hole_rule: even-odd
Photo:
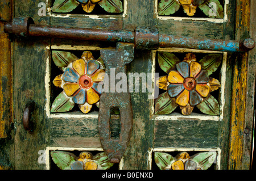
[[[134,59],[134,46],[130,43],[117,43],[117,48],[113,50],[101,50],[102,60],[105,62],[106,74],[110,75],[110,70],[114,69],[115,75],[126,73],[125,65]],[[109,85],[115,83],[109,79]],[[133,111],[131,98],[128,91],[117,92],[111,90],[101,93],[100,109],[98,113],[98,131],[102,148],[108,155],[110,162],[119,163],[131,135],[133,125]],[[120,110],[120,133],[119,139],[111,138],[110,133],[110,108],[118,107]]]

